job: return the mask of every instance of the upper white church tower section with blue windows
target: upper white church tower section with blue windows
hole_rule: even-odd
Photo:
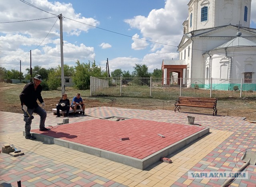
[[[250,28],[252,0],[190,0],[188,32],[237,25]]]

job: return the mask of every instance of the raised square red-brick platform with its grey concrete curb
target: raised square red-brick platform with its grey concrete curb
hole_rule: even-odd
[[[31,132],[43,142],[145,169],[160,157],[166,157],[204,136],[209,128],[140,119],[96,119],[54,126],[47,132]]]

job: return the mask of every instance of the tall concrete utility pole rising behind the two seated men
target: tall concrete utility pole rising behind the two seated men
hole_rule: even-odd
[[[58,16],[60,19],[60,61],[61,61],[61,95],[65,93],[64,81],[64,61],[63,61],[63,33],[62,33],[62,14]]]

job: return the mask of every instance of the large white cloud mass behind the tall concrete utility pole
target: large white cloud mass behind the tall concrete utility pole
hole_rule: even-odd
[[[4,0],[0,1],[2,22],[55,17],[40,21],[0,24],[0,65],[9,70],[19,70],[21,60],[22,72],[26,73],[25,69],[30,67],[30,49],[32,49],[32,67],[40,65],[48,69],[60,65],[60,20],[58,19],[60,12],[65,12],[63,30],[68,35],[78,36],[82,32],[92,29],[91,26],[100,24],[93,18],[85,18],[76,14],[70,3],[52,3],[47,0],[28,0],[28,2],[57,16],[32,8],[21,1],[8,1],[8,3]],[[38,45],[40,46],[38,47]],[[38,48],[36,49],[36,47]],[[63,51],[64,63],[69,65],[74,65],[77,59],[80,61],[95,59],[94,47],[84,44],[75,45],[64,41]]]

